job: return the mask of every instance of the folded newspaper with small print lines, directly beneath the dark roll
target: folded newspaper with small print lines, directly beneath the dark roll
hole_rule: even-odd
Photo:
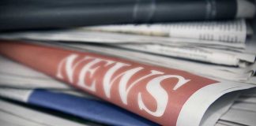
[[[119,28],[122,30],[118,30]],[[168,35],[174,32],[179,35],[170,37],[154,34],[145,35],[147,32],[154,31],[167,32],[163,34]],[[122,34],[123,32],[134,32],[134,34]],[[3,32],[0,37],[3,39],[40,39],[87,43],[199,44],[201,46],[217,46],[219,48],[228,46],[235,50],[235,48],[245,48],[246,39],[252,34],[252,28],[250,28],[249,24],[246,24],[245,20],[226,20],[176,24],[141,24],[135,26],[131,24],[124,26],[96,26],[50,31],[16,31],[13,33]]]

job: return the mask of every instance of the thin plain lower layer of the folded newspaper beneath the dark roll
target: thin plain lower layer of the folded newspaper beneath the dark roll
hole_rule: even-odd
[[[169,38],[161,36],[129,35],[114,32],[86,31],[84,29],[52,30],[52,31],[22,31],[1,33],[2,39],[32,39],[42,41],[64,41],[73,43],[153,43],[162,45],[197,45],[229,50],[244,50],[245,43],[227,43],[203,39]]]

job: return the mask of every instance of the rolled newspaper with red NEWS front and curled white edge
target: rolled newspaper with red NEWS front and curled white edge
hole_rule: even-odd
[[[230,92],[255,87],[132,58],[38,43],[2,40],[0,54],[162,125],[230,122],[230,115],[239,113],[225,113],[237,96]]]

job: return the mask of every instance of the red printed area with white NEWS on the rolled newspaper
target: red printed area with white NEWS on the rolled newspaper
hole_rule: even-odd
[[[50,46],[6,41],[0,53],[163,125],[175,125],[188,98],[217,83],[177,69]]]

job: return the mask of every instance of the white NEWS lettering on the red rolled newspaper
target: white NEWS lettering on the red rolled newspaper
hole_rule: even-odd
[[[178,82],[175,83],[175,87],[172,89],[175,91],[179,89],[179,87],[182,87],[185,83],[189,82],[190,80],[186,80],[183,78],[183,76],[178,75],[164,75],[164,72],[159,72],[156,70],[151,70],[149,74],[145,76],[141,76],[140,78],[134,80],[128,87],[128,82],[130,82],[130,79],[132,76],[134,76],[137,72],[140,72],[142,69],[145,69],[143,67],[135,67],[132,69],[128,69],[118,75],[115,75],[116,72],[119,71],[119,69],[122,69],[123,67],[131,66],[126,63],[122,62],[116,62],[111,60],[105,60],[101,58],[96,57],[88,57],[85,56],[82,59],[77,60],[78,55],[77,54],[70,54],[70,56],[62,59],[60,63],[58,64],[57,74],[56,76],[59,79],[64,79],[64,76],[62,75],[62,68],[64,68],[64,73],[67,75],[67,79],[70,83],[74,83],[73,79],[75,76],[74,71],[77,69],[78,65],[83,65],[82,63],[85,61],[88,61],[85,65],[82,66],[81,71],[78,73],[78,81],[77,86],[88,89],[89,91],[96,92],[96,80],[93,80],[93,76],[95,75],[96,71],[100,69],[100,67],[106,67],[108,65],[111,66],[110,69],[107,69],[107,72],[103,76],[103,88],[104,88],[104,95],[106,95],[107,98],[111,98],[111,87],[115,81],[119,80],[119,95],[122,100],[122,103],[124,105],[128,105],[127,98],[129,95],[130,90],[141,80],[145,80],[146,78],[149,78],[150,76],[158,75],[152,80],[149,80],[149,83],[146,83],[146,91],[149,92],[150,95],[152,95],[152,98],[156,100],[156,110],[150,110],[146,105],[145,101],[143,102],[143,96],[141,92],[137,95],[137,104],[139,106],[139,109],[145,110],[145,112],[151,114],[155,117],[161,117],[165,109],[168,105],[168,91],[164,89],[164,87],[161,86],[161,82],[166,79],[178,79]],[[104,66],[96,66],[96,64],[104,62]],[[103,68],[102,68],[103,69]],[[85,83],[86,76],[89,74],[89,78],[92,80],[92,83],[88,84]],[[115,76],[114,76],[115,75]],[[171,83],[170,83],[171,84]]]

